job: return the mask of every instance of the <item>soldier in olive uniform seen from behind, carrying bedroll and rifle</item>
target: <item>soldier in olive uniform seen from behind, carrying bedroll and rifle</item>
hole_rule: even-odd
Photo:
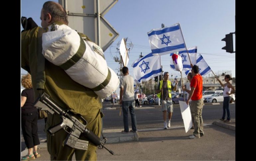
[[[21,33],[21,67],[32,76],[35,99],[39,96],[39,91],[44,89],[44,92],[64,110],[81,115],[87,121],[86,127],[100,136],[103,117],[100,112],[101,99],[93,90],[74,82],[62,68],[41,57],[40,32],[51,32],[55,25],[68,25],[67,12],[59,3],[47,1],[41,10],[40,19],[43,30],[35,27]],[[44,61],[45,63],[42,63]],[[77,119],[82,122],[78,117]],[[49,114],[46,129],[61,121],[60,116]],[[64,145],[66,136],[67,132],[63,129],[54,136],[47,132],[47,148],[51,160],[71,160],[74,153],[76,160],[97,160],[96,146],[87,138],[81,136],[79,139],[89,141],[88,149],[76,150]]]

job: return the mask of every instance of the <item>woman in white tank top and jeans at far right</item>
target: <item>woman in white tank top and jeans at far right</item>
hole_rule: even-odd
[[[231,97],[229,95],[235,93],[235,88],[229,82],[230,80],[232,80],[232,78],[230,77],[230,75],[225,75],[225,78],[224,78],[224,80],[226,82],[225,84],[223,84],[218,78],[216,78],[216,79],[219,81],[220,85],[222,87],[224,87],[223,115],[222,115],[222,118],[219,120],[224,121],[224,122],[230,122],[229,101],[230,101]],[[226,111],[227,111],[227,120],[225,120]]]

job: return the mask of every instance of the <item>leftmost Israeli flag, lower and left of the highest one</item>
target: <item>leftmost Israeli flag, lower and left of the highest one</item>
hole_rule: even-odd
[[[148,81],[161,74],[160,56],[152,53],[135,60],[132,64],[135,82]]]

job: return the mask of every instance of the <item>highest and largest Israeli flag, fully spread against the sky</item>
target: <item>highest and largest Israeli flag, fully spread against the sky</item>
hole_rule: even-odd
[[[179,23],[170,27],[152,29],[148,32],[148,36],[152,54],[154,55],[186,50]]]

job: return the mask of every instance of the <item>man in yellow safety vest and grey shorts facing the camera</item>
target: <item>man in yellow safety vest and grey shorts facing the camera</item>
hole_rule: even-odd
[[[169,73],[164,73],[164,80],[159,81],[157,87],[157,97],[162,100],[162,111],[163,111],[163,119],[164,119],[164,129],[171,126],[171,118],[173,114],[173,102],[172,102],[172,89],[176,91],[177,88],[176,81],[175,87],[172,85],[169,80]],[[168,121],[166,122],[166,112],[168,111]]]

